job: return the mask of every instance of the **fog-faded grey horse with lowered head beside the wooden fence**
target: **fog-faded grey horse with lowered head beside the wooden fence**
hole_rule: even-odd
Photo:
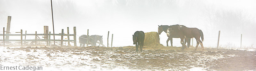
[[[92,35],[92,36],[89,36],[88,38],[88,43],[89,44],[92,44],[92,46],[96,46],[96,43],[97,41],[100,41],[100,44],[105,47],[102,43],[103,43],[103,40],[102,40],[102,36],[99,36],[99,35]],[[87,44],[87,35],[82,35],[79,37],[79,43],[80,43],[80,47],[83,47],[85,46],[85,44]]]

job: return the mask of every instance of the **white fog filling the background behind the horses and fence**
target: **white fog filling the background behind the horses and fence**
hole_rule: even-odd
[[[255,47],[255,3],[255,0],[52,0],[55,34],[61,33],[61,29],[67,33],[67,27],[73,34],[76,27],[77,35],[81,36],[89,29],[89,35],[102,35],[107,46],[109,31],[109,44],[114,34],[113,47],[134,46],[135,31],[157,32],[157,25],[175,24],[201,29],[205,47],[217,47],[219,30],[222,47],[240,48],[241,34],[242,47]],[[12,16],[12,34],[18,34],[15,32],[20,29],[28,34],[35,31],[41,34],[43,26],[49,26],[53,33],[50,0],[1,0],[0,14],[1,34],[7,16]],[[166,46],[166,34],[159,36],[160,43]],[[11,39],[14,38],[19,37]],[[179,38],[173,38],[173,46],[181,46]]]

